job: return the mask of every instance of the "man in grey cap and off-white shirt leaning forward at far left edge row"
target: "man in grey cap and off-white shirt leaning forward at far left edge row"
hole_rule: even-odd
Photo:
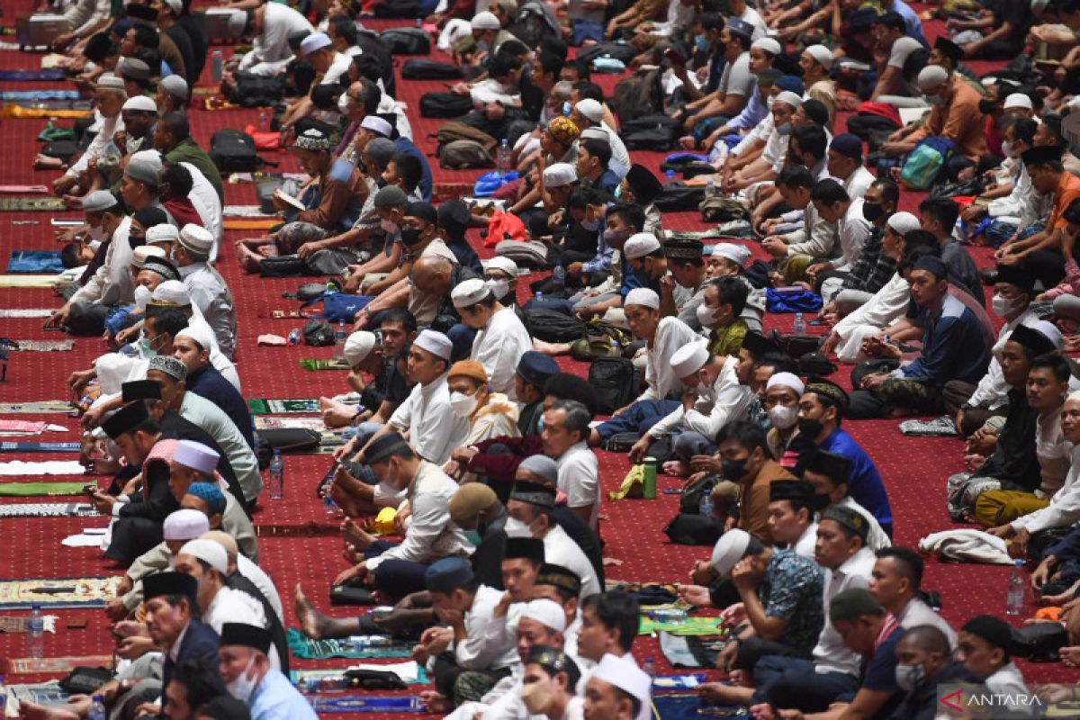
[[[82,287],[45,322],[46,327],[67,327],[73,335],[100,335],[105,317],[117,305],[131,304],[134,297],[131,272],[132,248],[127,242],[131,218],[106,190],[96,190],[83,200],[83,210],[100,215],[104,235],[95,253],[100,264],[82,283]],[[104,248],[104,249],[103,249]],[[87,272],[93,267],[87,266]],[[85,275],[85,274],[84,274]]]

